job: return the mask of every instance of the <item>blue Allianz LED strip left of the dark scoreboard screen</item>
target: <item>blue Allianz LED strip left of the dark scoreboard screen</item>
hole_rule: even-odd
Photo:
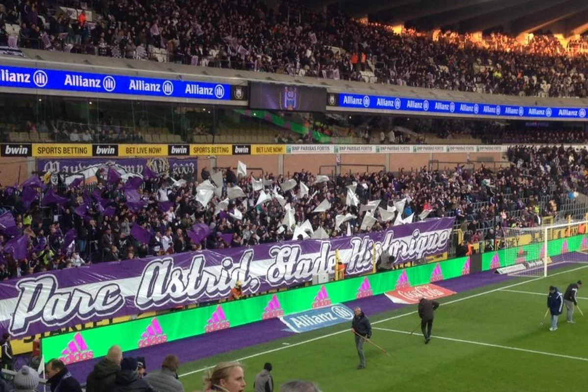
[[[105,93],[112,96],[154,96],[198,100],[247,100],[247,86],[226,83],[144,78],[59,69],[0,66],[0,87]]]

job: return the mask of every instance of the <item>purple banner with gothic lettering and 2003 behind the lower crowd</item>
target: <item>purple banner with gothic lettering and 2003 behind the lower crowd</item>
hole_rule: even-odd
[[[144,176],[149,169],[158,175],[192,176],[198,173],[196,158],[86,158],[86,159],[37,159],[40,172],[68,173],[81,172],[90,166],[106,163],[121,165],[126,171]],[[146,170],[145,168],[148,168]]]

